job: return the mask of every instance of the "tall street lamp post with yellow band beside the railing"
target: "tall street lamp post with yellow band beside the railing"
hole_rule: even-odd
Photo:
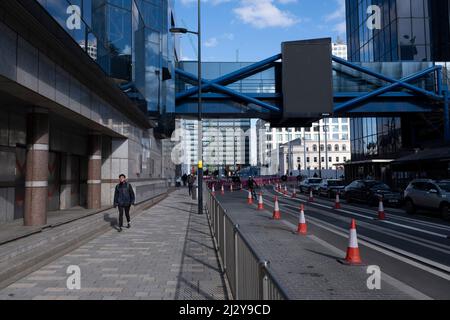
[[[189,31],[186,28],[170,28],[172,33],[192,33],[198,39],[198,214],[203,214],[203,126],[202,126],[202,37],[201,37],[201,6],[198,0],[198,26],[197,32]]]

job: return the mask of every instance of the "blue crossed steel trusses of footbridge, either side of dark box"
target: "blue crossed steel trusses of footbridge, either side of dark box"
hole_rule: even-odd
[[[208,103],[211,104],[211,108],[206,106],[206,109],[214,116],[222,114],[223,116],[230,117],[232,115],[225,113],[233,112],[236,117],[242,117],[243,115],[252,117],[255,117],[256,115],[263,119],[269,117],[272,119],[277,116],[281,117],[283,111],[281,92],[244,93],[233,90],[234,87],[233,89],[226,87],[269,68],[273,68],[279,64],[277,61],[281,58],[281,55],[275,55],[226,75],[221,75],[214,80],[202,79],[202,90],[205,92],[203,96],[206,105]],[[406,74],[403,73],[403,77],[398,80],[393,76],[387,76],[381,72],[376,72],[362,65],[335,56],[333,56],[332,59],[336,64],[334,65],[336,77],[342,77],[342,79],[336,79],[338,81],[337,83],[342,83],[346,90],[356,89],[343,92],[336,92],[335,90],[334,116],[351,117],[352,115],[360,116],[362,113],[376,115],[385,113],[400,114],[405,112],[432,112],[433,110],[441,108],[443,104],[448,105],[448,88],[443,85],[443,72],[441,66],[428,64],[428,66],[431,67],[410,74],[408,73],[408,70],[413,70],[417,67],[423,69],[426,64],[408,66],[407,63],[405,63],[399,66],[406,69]],[[339,65],[342,65],[345,68],[339,70]],[[384,70],[386,70],[386,68],[391,68],[394,70],[394,74],[398,75],[395,71],[396,67],[398,67],[396,65],[393,67],[390,65],[381,65],[380,67],[380,65],[378,65],[378,67]],[[389,72],[392,73],[393,70],[390,70]],[[400,72],[405,72],[405,70]],[[198,81],[195,75],[184,70],[176,69],[176,73],[180,80],[190,84],[195,85]],[[420,81],[420,83],[412,84],[412,82],[417,81]],[[355,85],[352,85],[352,83],[355,83]],[[275,88],[281,88],[281,84],[276,83],[276,80],[274,80],[273,86]],[[357,91],[361,89],[361,92]],[[194,104],[197,91],[198,87],[192,87],[179,92],[176,95],[177,113],[189,114],[190,110],[194,110],[194,108],[190,108],[189,106]],[[444,93],[447,94],[447,97],[445,97]],[[230,103],[230,105],[225,107],[225,104],[228,103]],[[241,104],[239,105],[239,103]],[[239,107],[241,110],[239,110]],[[446,108],[446,112],[448,116],[448,119],[446,119],[448,122],[446,130],[448,132],[446,134],[450,141],[450,115],[448,115],[448,107]]]

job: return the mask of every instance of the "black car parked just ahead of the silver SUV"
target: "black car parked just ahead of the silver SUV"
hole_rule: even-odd
[[[391,188],[376,180],[356,180],[345,187],[344,198],[347,202],[360,201],[370,206],[377,205],[383,197],[385,205],[400,206],[402,196],[400,192],[392,191]]]

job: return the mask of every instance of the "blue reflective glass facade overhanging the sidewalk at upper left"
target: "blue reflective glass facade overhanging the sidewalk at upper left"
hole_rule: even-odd
[[[37,0],[155,116],[175,111],[172,0]]]

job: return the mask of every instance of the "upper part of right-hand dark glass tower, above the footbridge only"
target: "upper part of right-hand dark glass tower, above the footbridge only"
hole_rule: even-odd
[[[449,61],[449,2],[346,0],[349,60]]]

